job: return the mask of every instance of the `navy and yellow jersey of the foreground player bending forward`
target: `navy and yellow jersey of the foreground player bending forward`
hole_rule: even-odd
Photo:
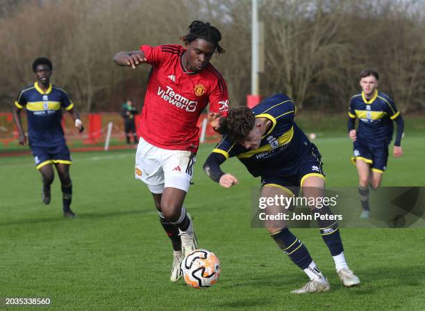
[[[213,152],[223,154],[226,159],[238,157],[254,177],[278,173],[279,168],[297,166],[299,159],[311,150],[311,143],[294,122],[297,109],[287,95],[276,94],[263,99],[253,107],[256,118],[272,121],[262,137],[260,147],[248,150],[238,142],[224,135]]]

